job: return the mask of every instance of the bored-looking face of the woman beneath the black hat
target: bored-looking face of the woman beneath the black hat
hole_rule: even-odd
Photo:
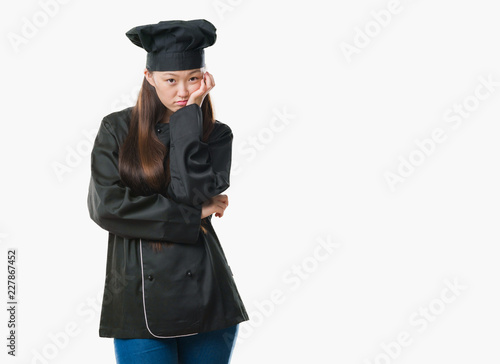
[[[144,75],[148,82],[156,89],[158,98],[172,113],[186,106],[189,96],[201,86],[203,68],[185,71],[154,71],[146,69]],[[179,103],[179,101],[185,101]]]

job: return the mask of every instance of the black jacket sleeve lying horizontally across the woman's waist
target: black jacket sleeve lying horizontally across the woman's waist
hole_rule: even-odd
[[[110,130],[103,119],[91,152],[90,218],[103,229],[129,239],[196,243],[201,205],[177,203],[161,194],[134,195],[120,179],[119,145]]]

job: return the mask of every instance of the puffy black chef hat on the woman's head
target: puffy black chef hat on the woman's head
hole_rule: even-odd
[[[215,43],[216,28],[205,19],[168,20],[140,25],[126,36],[147,52],[150,71],[180,71],[205,66],[203,48]]]

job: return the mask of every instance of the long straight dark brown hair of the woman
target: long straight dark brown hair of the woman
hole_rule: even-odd
[[[137,103],[132,108],[128,135],[120,147],[118,168],[122,182],[137,195],[166,194],[170,183],[170,158],[168,150],[155,133],[155,124],[163,119],[167,108],[162,104],[155,88],[146,77],[142,81]],[[201,105],[203,137],[207,142],[214,128],[215,117],[210,94]],[[203,233],[207,233],[207,217],[201,220]],[[161,250],[162,244],[150,242],[153,249]]]

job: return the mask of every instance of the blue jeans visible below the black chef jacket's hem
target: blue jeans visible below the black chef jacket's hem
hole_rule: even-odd
[[[114,339],[117,364],[228,364],[239,324],[166,339]]]

